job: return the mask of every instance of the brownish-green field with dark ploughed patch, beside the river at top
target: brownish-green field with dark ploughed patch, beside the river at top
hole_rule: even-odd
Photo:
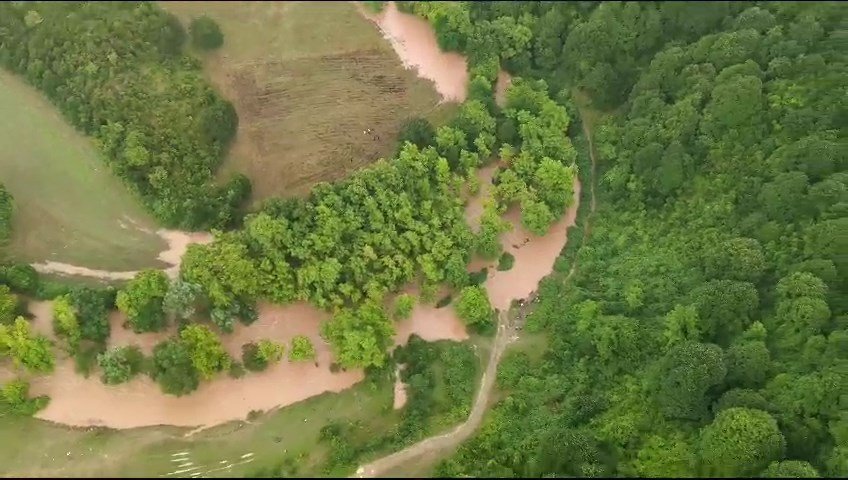
[[[161,5],[186,24],[206,14],[224,32],[218,51],[198,56],[239,115],[220,174],[247,174],[255,200],[343,178],[390,155],[405,119],[438,122],[455,108],[438,105],[432,84],[404,70],[350,2]]]

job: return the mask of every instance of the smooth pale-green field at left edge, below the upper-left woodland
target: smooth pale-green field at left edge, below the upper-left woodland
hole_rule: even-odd
[[[155,230],[153,220],[46,98],[0,71],[0,111],[0,181],[15,198],[12,258],[105,270],[160,264],[165,242],[129,219]]]

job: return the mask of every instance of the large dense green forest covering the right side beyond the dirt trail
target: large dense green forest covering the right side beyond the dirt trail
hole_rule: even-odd
[[[529,319],[550,347],[504,360],[505,398],[437,473],[848,475],[848,10],[401,7],[472,68],[491,45],[615,109],[576,274]]]

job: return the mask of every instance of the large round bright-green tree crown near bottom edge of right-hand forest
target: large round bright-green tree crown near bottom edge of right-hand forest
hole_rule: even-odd
[[[752,476],[781,458],[785,447],[771,415],[750,408],[728,408],[701,431],[701,474]]]

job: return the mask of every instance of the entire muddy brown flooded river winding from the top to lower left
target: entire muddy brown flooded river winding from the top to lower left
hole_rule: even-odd
[[[405,65],[415,68],[420,76],[434,82],[436,90],[445,101],[458,102],[465,99],[468,80],[465,59],[457,54],[440,52],[435,35],[426,21],[399,12],[394,3],[389,3],[379,15],[361,11],[379,26]],[[499,76],[499,102],[503,101],[509,82],[510,78],[505,73]],[[496,168],[496,165],[491,165],[478,172],[480,194],[471,199],[466,208],[466,217],[472,226],[479,220],[482,202],[491,188],[491,178]],[[495,268],[497,262],[479,259],[475,259],[469,266],[469,271],[489,267],[485,288],[495,308],[505,310],[513,300],[526,298],[537,288],[538,282],[552,271],[554,261],[567,240],[566,229],[574,223],[579,194],[580,184],[575,180],[574,206],[544,237],[526,232],[521,227],[516,209],[507,212],[505,218],[514,228],[504,234],[501,241],[504,250],[515,257],[513,268],[498,272]],[[211,236],[203,233],[165,230],[157,233],[168,242],[168,249],[159,255],[159,259],[170,265],[166,271],[172,276],[178,273],[180,259],[188,245],[211,241]],[[105,279],[128,279],[135,274],[102,272],[56,263],[39,264],[36,268],[42,272],[81,274]],[[417,296],[415,287],[410,286],[404,291]],[[52,337],[50,302],[34,302],[30,310],[35,315],[35,328]],[[362,380],[363,373],[359,370],[330,371],[331,352],[319,334],[321,322],[328,318],[326,312],[306,304],[260,305],[259,320],[253,325],[239,324],[234,333],[222,336],[230,354],[239,359],[241,346],[258,339],[273,339],[288,347],[292,337],[306,335],[315,345],[316,362],[295,364],[284,359],[264,372],[248,372],[241,379],[220,374],[211,381],[203,382],[197,391],[184,397],[162,394],[158,385],[144,375],[123,385],[104,385],[98,373],[88,379],[83,378],[74,372],[72,359],[60,359],[54,374],[32,380],[33,394],[47,394],[51,397],[48,407],[37,416],[74,426],[212,426],[244,419],[253,410],[269,410],[323,392],[344,390]],[[135,344],[147,354],[152,352],[158,342],[173,334],[134,334],[123,328],[124,318],[119,312],[113,312],[110,321],[111,346]],[[411,318],[398,322],[395,327],[394,340],[398,345],[406,343],[413,333],[430,341],[468,338],[464,325],[450,306],[435,308],[418,302]],[[405,389],[399,381],[395,392],[395,407],[399,408],[406,400]]]

